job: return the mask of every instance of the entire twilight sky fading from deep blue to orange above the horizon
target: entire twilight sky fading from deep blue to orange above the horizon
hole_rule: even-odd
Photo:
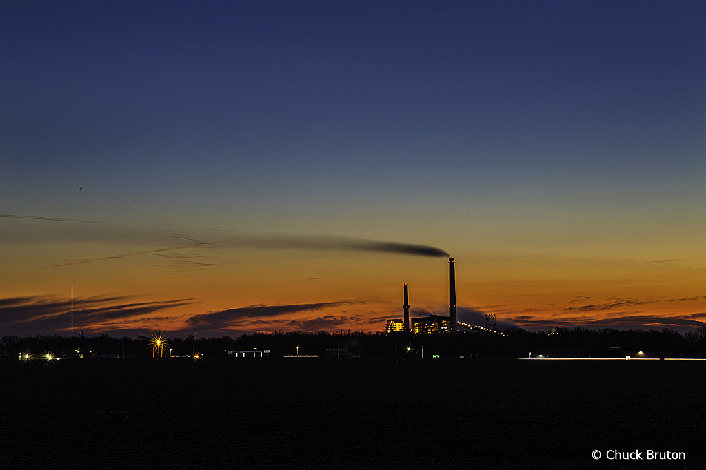
[[[4,1],[0,333],[703,325],[705,20]]]

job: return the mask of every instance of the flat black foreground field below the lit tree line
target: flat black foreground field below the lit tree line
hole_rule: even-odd
[[[706,361],[173,358],[0,370],[0,470],[706,468]],[[608,450],[642,460],[611,461]],[[686,461],[650,461],[647,450]]]

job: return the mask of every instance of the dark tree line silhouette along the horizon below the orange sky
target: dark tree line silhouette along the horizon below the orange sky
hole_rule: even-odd
[[[407,335],[370,333],[345,330],[340,332],[256,332],[233,339],[229,336],[196,338],[167,337],[155,347],[146,336],[111,337],[107,333],[95,337],[65,338],[59,335],[18,337],[4,335],[0,339],[0,356],[19,358],[75,358],[117,355],[121,358],[152,356],[229,356],[228,351],[270,351],[269,356],[316,355],[342,357],[455,357],[516,358],[527,357],[531,351],[546,350],[609,350],[671,351],[671,357],[706,358],[706,326],[696,327],[681,335],[675,330],[588,330],[558,328],[551,334],[530,332],[512,327],[503,335],[487,332],[467,332],[457,335]],[[299,347],[297,349],[297,347]],[[78,352],[80,351],[80,353]]]

